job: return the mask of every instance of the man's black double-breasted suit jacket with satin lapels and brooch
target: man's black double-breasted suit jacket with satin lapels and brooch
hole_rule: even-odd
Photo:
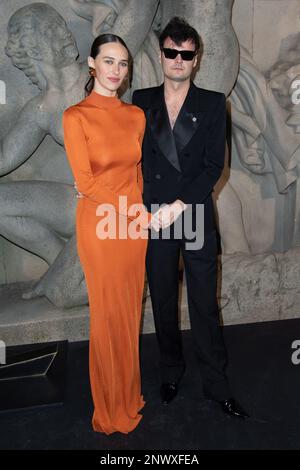
[[[221,176],[225,157],[226,99],[192,82],[170,126],[164,85],[137,90],[133,104],[142,108],[147,125],[143,141],[144,203],[203,204],[205,231],[214,225],[211,193]]]

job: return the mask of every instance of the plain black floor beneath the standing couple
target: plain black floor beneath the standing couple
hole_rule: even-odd
[[[204,400],[188,331],[183,333],[187,370],[174,402],[160,404],[156,340],[145,335],[143,420],[127,436],[95,433],[90,422],[88,343],[71,343],[65,404],[0,413],[0,448],[299,449],[300,364],[292,364],[291,345],[300,340],[300,319],[229,326],[224,335],[231,386],[250,419],[227,417],[217,404]]]

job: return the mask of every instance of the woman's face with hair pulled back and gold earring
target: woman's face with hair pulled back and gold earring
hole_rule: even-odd
[[[96,91],[114,95],[128,76],[127,49],[119,42],[108,42],[100,46],[96,59],[88,58],[88,64],[96,71]]]

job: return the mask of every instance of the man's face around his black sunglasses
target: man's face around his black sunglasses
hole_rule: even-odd
[[[166,49],[177,49],[178,51],[194,51],[195,44],[189,40],[181,43],[180,46],[175,44],[171,38],[167,38],[163,45]],[[161,51],[160,63],[162,65],[165,78],[174,82],[184,82],[189,80],[194,68],[197,65],[197,55],[193,60],[183,60],[178,54],[175,59],[167,59],[163,51]]]

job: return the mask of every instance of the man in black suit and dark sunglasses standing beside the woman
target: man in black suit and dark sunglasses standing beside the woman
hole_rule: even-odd
[[[211,193],[224,166],[226,101],[222,93],[197,88],[191,76],[197,66],[200,38],[194,28],[173,18],[160,35],[164,83],[136,91],[133,103],[146,115],[143,142],[144,203],[163,204],[156,211],[160,227],[173,227],[170,237],[149,240],[147,276],[160,349],[162,403],[177,394],[185,364],[178,327],[178,262],[182,253],[189,314],[200,358],[204,392],[223,410],[248,415],[232,398],[225,375],[226,351],[216,300],[217,239]],[[204,245],[177,237],[174,222],[204,205]],[[155,210],[154,210],[155,211]],[[196,222],[195,222],[196,221]],[[160,235],[164,232],[162,230]]]

